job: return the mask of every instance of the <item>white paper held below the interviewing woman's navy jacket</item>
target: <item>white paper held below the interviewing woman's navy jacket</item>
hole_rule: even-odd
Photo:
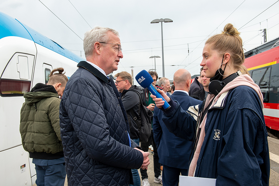
[[[212,178],[199,178],[192,176],[179,176],[179,186],[215,186],[216,179]]]

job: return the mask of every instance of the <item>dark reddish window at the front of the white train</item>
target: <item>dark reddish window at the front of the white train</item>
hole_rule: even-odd
[[[0,95],[2,97],[23,96],[25,92],[30,91],[30,81],[20,80],[0,80]]]

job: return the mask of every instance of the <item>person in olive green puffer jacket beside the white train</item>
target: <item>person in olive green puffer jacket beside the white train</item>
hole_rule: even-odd
[[[62,186],[65,182],[59,125],[59,96],[63,95],[68,81],[63,71],[63,68],[52,70],[47,84],[38,83],[30,92],[24,93],[25,102],[20,110],[22,145],[33,158],[38,186]]]

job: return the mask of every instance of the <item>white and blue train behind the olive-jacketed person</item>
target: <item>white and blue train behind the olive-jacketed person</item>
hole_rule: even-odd
[[[0,184],[33,185],[35,166],[24,151],[19,132],[23,94],[47,83],[53,68],[68,77],[83,58],[0,12]]]

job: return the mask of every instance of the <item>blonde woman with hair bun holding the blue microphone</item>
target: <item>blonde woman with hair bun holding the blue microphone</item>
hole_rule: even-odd
[[[183,110],[158,90],[170,104],[163,121],[176,136],[193,140],[188,176],[215,178],[216,185],[269,185],[268,133],[263,117],[263,95],[244,63],[240,32],[227,24],[203,48],[201,66],[210,78],[200,105]],[[158,108],[164,101],[152,95]]]

